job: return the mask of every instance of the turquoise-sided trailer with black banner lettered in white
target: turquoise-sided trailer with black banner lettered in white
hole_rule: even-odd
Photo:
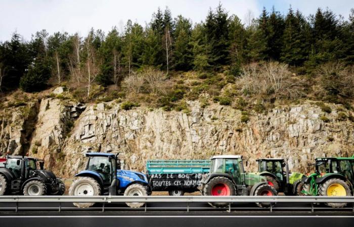
[[[168,191],[182,196],[199,191],[202,175],[209,173],[210,160],[148,160],[147,176],[151,191]]]

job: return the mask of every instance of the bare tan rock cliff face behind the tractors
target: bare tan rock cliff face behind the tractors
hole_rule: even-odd
[[[242,123],[240,110],[218,104],[202,108],[197,101],[188,102],[189,113],[122,110],[115,102],[63,103],[41,101],[29,149],[61,177],[82,169],[87,151],[119,152],[124,168],[139,171],[147,159],[242,154],[249,171],[255,171],[256,158],[286,157],[291,170],[307,172],[315,157],[348,156],[354,150],[353,123],[338,118],[339,105],[330,105],[331,113],[311,103],[277,107],[252,112]]]

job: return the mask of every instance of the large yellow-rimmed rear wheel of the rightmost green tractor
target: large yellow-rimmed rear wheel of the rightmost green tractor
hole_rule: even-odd
[[[320,196],[351,196],[349,186],[338,178],[332,178],[319,185]],[[344,207],[346,203],[326,203],[331,207]]]

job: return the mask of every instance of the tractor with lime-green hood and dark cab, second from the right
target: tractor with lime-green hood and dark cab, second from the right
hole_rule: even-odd
[[[260,158],[257,175],[267,178],[268,184],[277,192],[285,195],[302,195],[303,183],[301,179],[306,177],[300,173],[290,173],[288,161],[284,158]],[[285,168],[285,170],[284,170]]]

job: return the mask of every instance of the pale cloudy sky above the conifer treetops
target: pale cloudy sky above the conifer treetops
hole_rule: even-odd
[[[354,8],[353,0],[221,0],[229,14],[236,14],[245,19],[250,10],[257,17],[262,8],[286,13],[291,5],[304,15],[313,14],[318,7],[329,7],[334,13],[348,18],[350,8]],[[46,29],[50,34],[67,31],[86,35],[91,27],[109,31],[113,26],[124,27],[131,19],[145,25],[158,7],[166,6],[172,16],[182,14],[193,22],[205,19],[209,7],[214,9],[218,0],[0,0],[0,40],[8,40],[14,31],[20,33],[25,40],[31,34]]]

